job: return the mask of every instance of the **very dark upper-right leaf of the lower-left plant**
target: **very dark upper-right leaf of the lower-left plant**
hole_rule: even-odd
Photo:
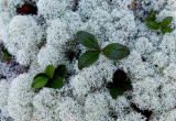
[[[55,75],[59,75],[62,78],[67,74],[67,68],[65,65],[59,65],[56,69],[55,69]]]

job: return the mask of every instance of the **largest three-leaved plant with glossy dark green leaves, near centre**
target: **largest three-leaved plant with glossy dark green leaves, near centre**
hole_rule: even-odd
[[[79,59],[78,59],[78,68],[82,69],[84,67],[90,66],[92,63],[95,63],[100,53],[102,53],[105,56],[107,56],[110,59],[121,59],[127,57],[130,54],[130,51],[128,47],[119,44],[113,43],[107,45],[103,50],[100,48],[98,45],[97,38],[84,31],[79,31],[76,34],[76,38],[79,41],[80,44],[88,47],[90,51],[84,53]]]

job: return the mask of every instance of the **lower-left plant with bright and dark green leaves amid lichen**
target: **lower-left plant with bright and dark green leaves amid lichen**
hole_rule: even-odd
[[[64,86],[63,78],[66,75],[67,69],[65,65],[59,65],[56,69],[53,65],[48,65],[45,73],[40,73],[34,77],[32,88],[50,87],[59,89]]]

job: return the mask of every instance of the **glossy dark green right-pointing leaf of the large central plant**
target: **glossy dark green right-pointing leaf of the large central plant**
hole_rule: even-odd
[[[110,59],[121,59],[127,57],[130,54],[130,51],[119,43],[113,43],[106,46],[102,50],[102,53]]]

